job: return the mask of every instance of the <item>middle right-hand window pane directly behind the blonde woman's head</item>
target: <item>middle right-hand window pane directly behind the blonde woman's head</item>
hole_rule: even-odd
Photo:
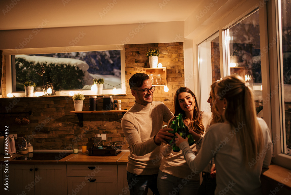
[[[258,116],[263,118],[259,10],[225,30],[226,75],[242,76],[253,88]]]

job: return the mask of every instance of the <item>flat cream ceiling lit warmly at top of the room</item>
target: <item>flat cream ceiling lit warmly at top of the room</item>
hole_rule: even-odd
[[[200,0],[1,0],[0,30],[185,21],[201,3]]]

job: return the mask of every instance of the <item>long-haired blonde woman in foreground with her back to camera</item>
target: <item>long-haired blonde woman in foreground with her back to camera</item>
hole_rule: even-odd
[[[215,194],[261,194],[260,174],[271,162],[272,142],[267,124],[256,117],[254,103],[249,83],[237,75],[227,76],[215,88],[215,105],[225,122],[207,129],[197,156],[187,139],[176,134],[191,169],[202,171],[214,157]]]

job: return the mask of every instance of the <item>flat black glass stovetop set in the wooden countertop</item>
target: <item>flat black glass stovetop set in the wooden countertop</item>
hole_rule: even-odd
[[[69,156],[70,152],[62,153],[62,152],[32,152],[28,154],[24,154],[23,156],[17,157],[13,160],[15,161],[59,161],[66,156]]]

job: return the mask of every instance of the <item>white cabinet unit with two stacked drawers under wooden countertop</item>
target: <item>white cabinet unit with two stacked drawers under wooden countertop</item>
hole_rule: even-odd
[[[118,194],[117,165],[67,165],[68,194]]]

